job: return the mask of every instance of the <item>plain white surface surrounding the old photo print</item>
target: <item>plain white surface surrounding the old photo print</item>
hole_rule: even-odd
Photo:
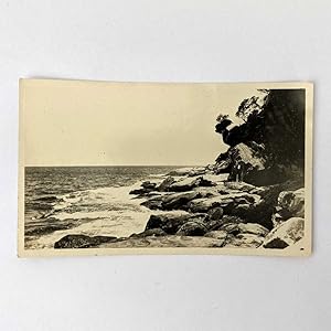
[[[0,330],[331,330],[330,1],[0,1]],[[313,81],[310,258],[18,259],[18,79]]]

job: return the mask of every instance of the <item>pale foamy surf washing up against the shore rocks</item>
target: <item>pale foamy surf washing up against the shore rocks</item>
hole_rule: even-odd
[[[164,168],[169,169],[168,166],[164,166]],[[173,170],[188,170],[193,168],[194,167],[182,167],[173,168]],[[139,189],[140,185],[148,180],[160,183],[167,177],[167,172],[160,174],[151,173],[132,184],[124,186],[102,186],[97,189],[64,193],[60,195],[57,194],[56,197],[62,201],[60,203],[60,205],[63,204],[62,207],[54,209],[53,206],[53,210],[51,212],[42,214],[40,215],[40,217],[36,217],[34,220],[29,220],[29,222],[25,221],[25,224],[28,223],[29,226],[28,228],[25,228],[24,235],[25,249],[54,249],[55,242],[66,235],[78,234],[86,236],[116,236],[124,238],[129,237],[135,233],[142,232],[146,227],[149,216],[153,213],[153,211],[141,205],[141,203],[145,202],[146,197],[135,196],[129,193],[132,190]],[[111,201],[111,199],[115,200],[115,202],[113,201],[111,204],[116,204],[117,201],[117,203],[119,203],[120,205],[128,204],[130,209],[134,207],[134,211],[118,211],[121,217],[126,217],[125,221],[127,224],[114,224],[116,221],[116,211],[114,211],[114,213],[111,213],[111,211],[108,211],[108,214],[107,212],[66,213],[62,211],[65,210],[65,207],[76,203],[78,201],[77,195],[103,191],[105,192],[105,195],[107,195],[108,202]],[[66,196],[72,196],[73,201],[66,201]],[[159,211],[157,213],[162,214],[163,212]]]

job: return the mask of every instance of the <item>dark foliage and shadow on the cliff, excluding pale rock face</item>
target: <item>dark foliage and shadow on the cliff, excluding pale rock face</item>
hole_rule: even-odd
[[[246,121],[228,130],[225,118],[216,125],[216,131],[231,148],[243,142],[256,157],[266,160],[266,169],[254,170],[247,180],[265,185],[285,181],[295,172],[302,177],[305,89],[271,89],[260,105],[258,97],[253,96],[243,100],[236,115]],[[216,162],[226,159],[227,154],[221,154]]]

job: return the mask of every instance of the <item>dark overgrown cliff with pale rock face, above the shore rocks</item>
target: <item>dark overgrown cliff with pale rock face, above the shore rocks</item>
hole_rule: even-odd
[[[216,159],[216,170],[235,180],[239,168],[239,180],[257,185],[303,183],[305,98],[305,89],[271,89],[260,106],[245,108],[256,97],[245,99],[237,111],[246,115],[243,125],[227,129],[232,121],[225,117],[215,127],[229,146]]]

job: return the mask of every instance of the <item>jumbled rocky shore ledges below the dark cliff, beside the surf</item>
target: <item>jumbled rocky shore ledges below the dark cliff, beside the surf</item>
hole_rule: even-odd
[[[227,181],[213,167],[179,169],[130,192],[153,211],[130,237],[66,235],[54,248],[278,248],[300,242],[305,189],[300,181],[268,186]]]

